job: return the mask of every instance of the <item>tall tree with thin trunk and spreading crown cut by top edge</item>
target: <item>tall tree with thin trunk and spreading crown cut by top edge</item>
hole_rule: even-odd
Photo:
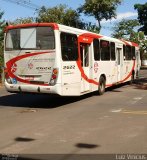
[[[79,13],[94,16],[101,29],[101,21],[116,17],[116,8],[122,0],[85,0],[85,3],[78,8]]]

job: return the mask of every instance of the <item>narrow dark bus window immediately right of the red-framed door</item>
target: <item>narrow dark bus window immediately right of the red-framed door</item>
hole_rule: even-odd
[[[93,50],[94,50],[94,60],[99,61],[100,60],[100,45],[99,45],[98,39],[93,40]]]

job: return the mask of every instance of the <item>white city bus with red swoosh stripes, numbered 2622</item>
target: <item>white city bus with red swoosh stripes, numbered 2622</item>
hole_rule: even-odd
[[[9,92],[80,96],[138,76],[138,44],[56,23],[7,26],[5,87]]]

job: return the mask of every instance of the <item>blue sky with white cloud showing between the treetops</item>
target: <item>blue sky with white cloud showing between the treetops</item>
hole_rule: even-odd
[[[13,21],[17,18],[23,17],[35,17],[36,13],[34,9],[26,8],[20,6],[16,3],[12,3],[12,1],[17,2],[23,1],[26,3],[32,3],[38,7],[46,6],[46,7],[54,7],[59,4],[66,4],[69,8],[77,9],[80,5],[84,4],[85,0],[0,0],[0,11],[4,11],[3,19],[7,21]],[[122,4],[117,8],[117,18],[112,19],[111,21],[103,20],[101,34],[106,36],[111,36],[113,33],[113,26],[115,23],[119,22],[123,18],[125,19],[136,19],[137,18],[137,10],[134,10],[134,4],[144,4],[147,0],[123,0]],[[82,16],[82,18],[86,21],[91,21],[92,23],[96,23],[96,20],[93,17]]]

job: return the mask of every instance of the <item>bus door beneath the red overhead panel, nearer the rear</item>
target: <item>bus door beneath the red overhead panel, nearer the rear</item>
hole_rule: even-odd
[[[80,43],[80,57],[81,66],[84,71],[84,76],[81,75],[81,92],[86,92],[90,90],[90,83],[86,80],[90,76],[90,44]]]

